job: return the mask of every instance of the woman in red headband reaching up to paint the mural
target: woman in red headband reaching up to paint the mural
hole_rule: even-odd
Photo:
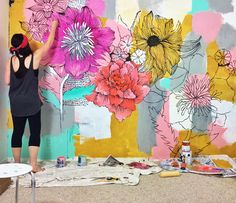
[[[13,120],[11,147],[16,163],[20,162],[22,136],[28,120],[30,127],[29,154],[33,172],[41,168],[37,164],[41,131],[41,101],[38,95],[38,69],[43,56],[51,47],[57,20],[53,20],[47,42],[32,52],[28,39],[23,34],[15,34],[11,39],[10,52],[5,71],[5,83],[10,85],[9,99]]]

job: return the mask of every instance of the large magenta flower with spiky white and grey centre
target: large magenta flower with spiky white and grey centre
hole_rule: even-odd
[[[96,61],[110,51],[113,39],[114,32],[102,27],[100,19],[88,7],[67,9],[59,18],[50,63],[65,64],[66,72],[80,79],[86,72],[97,71]]]

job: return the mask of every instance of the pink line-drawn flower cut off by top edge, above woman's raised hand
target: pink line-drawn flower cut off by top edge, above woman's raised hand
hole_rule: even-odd
[[[64,13],[68,0],[34,0],[35,5],[30,9],[33,12],[42,14],[46,19],[50,18],[53,12]]]

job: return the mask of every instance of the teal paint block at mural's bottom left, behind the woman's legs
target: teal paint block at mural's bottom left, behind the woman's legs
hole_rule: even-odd
[[[58,156],[74,158],[75,148],[73,136],[75,134],[79,134],[79,127],[76,124],[70,129],[64,130],[60,135],[43,135],[39,148],[39,160],[54,160]],[[8,157],[12,157],[11,136],[12,130],[8,130]],[[29,138],[24,135],[22,140],[22,158],[29,158],[28,142]]]

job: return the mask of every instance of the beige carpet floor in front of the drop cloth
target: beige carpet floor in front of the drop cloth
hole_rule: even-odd
[[[0,196],[1,203],[14,202],[14,189]],[[19,203],[28,203],[31,189],[20,187]],[[141,176],[137,186],[102,185],[36,189],[37,203],[236,203],[236,178],[198,174],[161,178]]]

